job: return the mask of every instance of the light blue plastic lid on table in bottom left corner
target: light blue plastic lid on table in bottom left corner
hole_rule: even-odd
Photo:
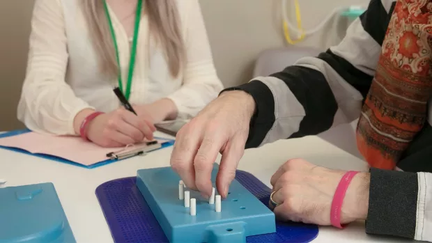
[[[1,188],[0,198],[0,242],[76,242],[52,183]]]

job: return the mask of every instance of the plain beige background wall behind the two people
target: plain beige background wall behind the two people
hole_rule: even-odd
[[[286,45],[281,29],[281,0],[199,1],[217,72],[224,86],[249,81],[254,61],[261,52]],[[349,4],[365,6],[368,2],[301,0],[302,24],[304,29],[311,29],[334,8]],[[25,76],[33,3],[34,0],[0,1],[0,130],[3,131],[22,127],[16,118],[16,107]],[[288,7],[288,17],[295,22],[293,4]],[[299,45],[325,49],[339,42],[345,29],[344,18],[334,17],[323,31]]]

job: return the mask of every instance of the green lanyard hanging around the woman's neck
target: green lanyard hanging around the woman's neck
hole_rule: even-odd
[[[93,1],[93,0],[92,0]],[[104,0],[105,5],[105,15],[107,15],[109,30],[111,31],[112,40],[114,42],[114,48],[116,49],[116,58],[118,65],[118,88],[120,88],[121,92],[125,94],[127,100],[129,100],[130,96],[130,87],[132,86],[132,76],[134,74],[134,65],[135,65],[135,57],[137,56],[137,42],[138,42],[138,33],[139,33],[139,22],[141,20],[141,8],[142,8],[142,0],[138,0],[137,3],[137,13],[135,14],[135,27],[134,27],[134,38],[132,40],[132,50],[130,51],[130,61],[129,61],[129,74],[128,74],[128,84],[126,86],[126,92],[123,91],[123,81],[121,77],[121,65],[120,58],[118,56],[118,45],[116,39],[116,33],[114,32],[114,26],[111,22],[111,17],[109,16],[107,1]]]

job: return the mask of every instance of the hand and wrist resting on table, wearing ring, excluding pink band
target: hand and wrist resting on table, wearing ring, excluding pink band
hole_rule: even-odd
[[[331,225],[330,207],[334,191],[345,171],[315,166],[304,159],[291,159],[272,176],[272,199],[276,217],[284,221]],[[341,224],[367,217],[369,173],[358,173],[350,182],[341,207]],[[272,204],[270,203],[270,207]]]

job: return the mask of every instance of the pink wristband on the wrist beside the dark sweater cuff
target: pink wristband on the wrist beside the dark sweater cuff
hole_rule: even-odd
[[[342,203],[344,203],[346,190],[348,189],[351,180],[353,180],[354,175],[357,175],[357,173],[358,171],[348,171],[345,173],[334,192],[332,207],[330,209],[330,222],[334,227],[344,228],[344,226],[341,226]]]

